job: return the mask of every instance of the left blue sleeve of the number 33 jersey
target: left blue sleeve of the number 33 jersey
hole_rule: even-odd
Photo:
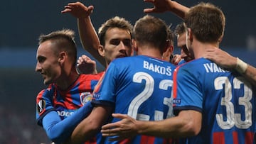
[[[194,73],[183,67],[174,72],[174,112],[195,110],[202,112],[203,94]]]

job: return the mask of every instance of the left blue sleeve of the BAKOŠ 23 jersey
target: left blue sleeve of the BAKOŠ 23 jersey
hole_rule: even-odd
[[[98,84],[99,87],[93,92],[92,104],[100,104],[105,106],[114,106],[116,99],[116,79],[118,72],[113,62],[110,63],[105,72],[102,81]]]

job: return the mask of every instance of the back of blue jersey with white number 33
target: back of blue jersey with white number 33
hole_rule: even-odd
[[[188,62],[177,70],[177,77],[183,77],[187,84],[178,87],[186,87],[190,94],[187,99],[177,96],[181,98],[176,99],[181,102],[177,106],[179,109],[190,106],[203,114],[201,132],[188,141],[252,143],[256,121],[255,88],[252,84],[240,74],[223,70],[204,58]],[[177,79],[179,83],[181,79]],[[197,87],[191,88],[193,85]],[[182,92],[178,94],[182,95]]]

